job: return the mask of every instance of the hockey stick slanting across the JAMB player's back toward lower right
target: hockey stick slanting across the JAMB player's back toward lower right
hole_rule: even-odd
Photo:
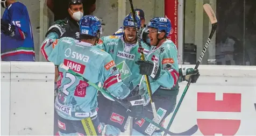
[[[95,83],[93,82],[90,82],[89,80],[87,80],[86,78],[83,77],[83,75],[79,74],[79,73],[76,73],[75,71],[73,71],[72,69],[69,69],[67,66],[63,65],[63,63],[59,66],[60,68],[63,68],[65,70],[67,70],[69,73],[77,76],[80,78],[80,80],[83,80],[83,81],[86,81],[88,84],[90,84],[92,87],[96,88],[97,90],[101,91],[102,94],[114,99],[116,102],[118,102],[119,104],[121,104],[122,106],[124,106],[124,108],[130,110],[130,104],[127,104],[126,102],[120,100],[120,99],[117,99],[116,97],[113,97],[108,91],[105,91],[104,89],[98,87],[98,85],[96,85]],[[131,110],[130,110],[131,111]],[[159,124],[155,123],[153,120],[147,118],[147,117],[143,117],[141,116],[141,118],[145,119],[146,121],[148,121],[148,123],[151,123],[153,124],[154,126],[160,128],[160,130],[162,130],[163,132],[169,134],[169,135],[190,135],[186,132],[183,132],[183,133],[172,133],[170,131],[168,131],[166,128],[163,128],[162,126],[160,126]]]

